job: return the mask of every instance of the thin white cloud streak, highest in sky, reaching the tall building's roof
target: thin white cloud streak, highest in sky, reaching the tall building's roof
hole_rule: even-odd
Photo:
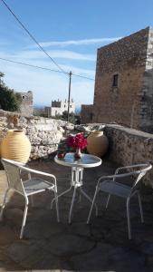
[[[99,38],[99,39],[84,39],[84,40],[70,40],[70,41],[54,41],[54,42],[43,42],[40,43],[43,47],[50,46],[69,46],[69,45],[89,45],[89,44],[103,44],[111,43],[120,40],[121,37],[112,37],[112,38]],[[31,47],[35,48],[37,45],[32,45]]]

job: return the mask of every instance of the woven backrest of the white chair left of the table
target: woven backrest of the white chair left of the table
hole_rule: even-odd
[[[24,195],[24,185],[20,178],[20,166],[21,163],[14,160],[1,160],[5,168],[8,187],[14,189]]]

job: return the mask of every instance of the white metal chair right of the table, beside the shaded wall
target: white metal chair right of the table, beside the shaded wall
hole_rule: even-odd
[[[120,167],[118,168],[114,175],[111,176],[105,176],[100,177],[98,180],[94,197],[91,204],[91,210],[87,219],[87,224],[90,222],[91,219],[91,211],[93,209],[94,202],[96,200],[97,193],[99,191],[104,191],[109,193],[107,203],[106,203],[106,209],[108,208],[110,196],[115,195],[118,197],[121,197],[123,199],[127,200],[127,219],[128,219],[128,232],[129,232],[129,239],[131,239],[131,230],[130,230],[130,218],[129,218],[129,200],[131,197],[133,197],[135,194],[138,195],[139,198],[139,210],[140,210],[140,217],[141,222],[144,222],[143,219],[143,211],[142,211],[142,204],[139,194],[139,180],[142,179],[142,177],[146,174],[148,170],[152,168],[151,164],[137,164],[137,165],[131,165],[126,167]],[[121,171],[121,173],[120,173]],[[126,172],[125,172],[126,171]],[[132,186],[125,185],[123,183],[117,182],[117,179],[123,179],[129,177],[134,178],[134,182]],[[122,180],[121,180],[122,181]]]

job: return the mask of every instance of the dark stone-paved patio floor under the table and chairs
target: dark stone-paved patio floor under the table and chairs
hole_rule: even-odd
[[[37,170],[52,172],[57,177],[58,191],[70,184],[69,168],[53,160],[32,161]],[[104,161],[96,169],[84,171],[84,190],[93,196],[96,179],[113,173],[116,166]],[[1,181],[1,195],[4,184]],[[51,195],[46,192],[34,197],[30,206],[24,239],[19,239],[24,199],[11,195],[4,221],[0,223],[0,271],[153,271],[153,196],[142,186],[145,223],[140,223],[138,199],[131,201],[132,240],[128,239],[124,199],[112,197],[109,209],[104,209],[106,196],[100,194],[99,217],[93,212],[86,225],[90,209],[85,199],[75,201],[72,224],[68,212],[72,195],[60,199],[61,223],[55,210],[50,210]]]

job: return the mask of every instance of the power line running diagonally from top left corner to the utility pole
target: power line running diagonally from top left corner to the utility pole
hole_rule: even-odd
[[[62,67],[56,63],[53,58],[49,55],[49,53],[47,53],[44,49],[43,49],[43,46],[41,44],[39,44],[37,42],[37,40],[34,38],[33,34],[31,34],[29,32],[29,30],[24,26],[24,24],[19,20],[19,18],[14,15],[14,12],[11,10],[11,8],[5,3],[4,0],[1,0],[3,2],[3,4],[5,5],[5,7],[9,10],[9,12],[14,16],[15,20],[24,28],[24,31],[32,38],[32,40],[34,41],[35,44],[37,44],[39,46],[39,48],[43,51],[43,53],[45,53],[50,59],[51,61],[63,72],[65,73],[65,71],[62,69]]]

